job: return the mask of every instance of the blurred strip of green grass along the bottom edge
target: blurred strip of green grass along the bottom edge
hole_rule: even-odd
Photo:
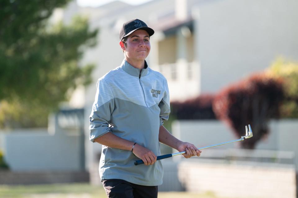
[[[106,198],[103,187],[89,183],[47,185],[0,185],[1,198]],[[219,198],[212,192],[195,194],[189,192],[159,192],[159,198]]]

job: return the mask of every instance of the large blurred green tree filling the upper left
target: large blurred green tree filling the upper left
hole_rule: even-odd
[[[50,24],[55,8],[70,0],[0,2],[0,128],[46,126],[79,85],[91,82],[93,65],[79,65],[98,30],[88,20]]]

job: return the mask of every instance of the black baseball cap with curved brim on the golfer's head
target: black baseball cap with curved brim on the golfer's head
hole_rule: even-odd
[[[149,28],[146,23],[139,19],[133,19],[125,22],[121,27],[119,32],[120,41],[123,39],[123,37],[127,37],[129,34],[133,33],[138,29],[146,30],[149,36],[152,36],[154,34],[154,30]]]

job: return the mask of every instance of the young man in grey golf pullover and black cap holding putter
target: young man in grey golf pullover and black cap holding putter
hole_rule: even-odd
[[[145,61],[153,29],[133,19],[119,34],[124,60],[97,81],[90,140],[102,144],[99,172],[108,197],[157,197],[163,176],[156,161],[159,142],[186,151],[185,158],[200,156],[201,151],[163,126],[170,113],[167,81]],[[138,158],[145,165],[135,166]]]

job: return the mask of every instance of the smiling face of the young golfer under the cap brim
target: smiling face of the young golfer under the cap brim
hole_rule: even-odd
[[[145,60],[150,52],[149,34],[145,30],[136,30],[127,38],[125,54],[129,59]]]

